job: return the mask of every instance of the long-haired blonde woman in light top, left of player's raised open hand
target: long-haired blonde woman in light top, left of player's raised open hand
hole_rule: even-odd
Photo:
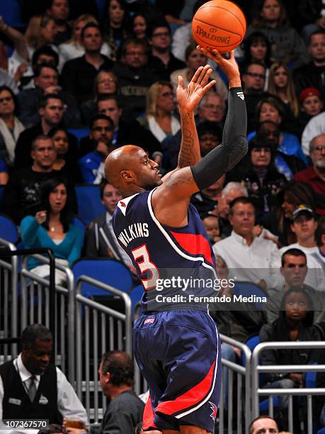
[[[146,116],[139,118],[139,123],[150,130],[161,143],[168,135],[174,135],[181,128],[178,119],[173,116],[175,98],[173,86],[169,82],[156,82],[147,92]]]

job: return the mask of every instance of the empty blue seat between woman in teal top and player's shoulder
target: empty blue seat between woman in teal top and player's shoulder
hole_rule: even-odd
[[[105,208],[101,203],[99,186],[94,184],[79,184],[74,187],[76,191],[76,201],[78,204],[78,216],[85,223],[89,223],[93,218],[101,216]]]

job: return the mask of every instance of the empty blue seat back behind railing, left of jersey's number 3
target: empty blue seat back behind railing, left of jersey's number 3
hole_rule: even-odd
[[[132,275],[129,269],[115,260],[81,258],[72,265],[72,272],[74,273],[74,282],[81,274],[85,274],[120,289],[120,291],[128,293],[132,289]],[[109,295],[107,291],[98,289],[91,284],[83,284],[82,287],[82,294],[86,297]]]

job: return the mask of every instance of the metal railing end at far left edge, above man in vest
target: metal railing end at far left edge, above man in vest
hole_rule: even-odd
[[[15,252],[16,246],[0,238],[0,338],[16,338],[18,333],[18,257],[8,256],[6,251]],[[10,313],[10,314],[9,314]],[[17,355],[17,344],[4,346],[1,363]]]

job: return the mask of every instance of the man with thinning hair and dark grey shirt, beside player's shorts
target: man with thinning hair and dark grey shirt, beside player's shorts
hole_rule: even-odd
[[[103,394],[108,397],[106,411],[99,433],[134,433],[142,421],[144,403],[132,390],[134,384],[133,360],[126,352],[108,351],[103,354],[98,369]]]

